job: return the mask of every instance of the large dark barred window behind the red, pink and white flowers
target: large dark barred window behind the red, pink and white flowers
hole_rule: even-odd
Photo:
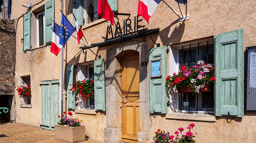
[[[208,44],[207,44],[208,43]],[[211,44],[210,44],[211,43]],[[214,63],[214,44],[213,39],[205,42],[185,45],[179,49],[179,69],[182,66],[197,65],[198,61],[205,63]],[[190,92],[179,93],[179,111],[180,112],[196,112],[196,113],[213,113],[214,111],[214,86],[211,86],[211,92],[200,92],[194,95]]]

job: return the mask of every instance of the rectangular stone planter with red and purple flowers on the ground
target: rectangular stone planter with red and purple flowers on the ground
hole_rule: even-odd
[[[66,112],[63,113],[66,114]],[[80,125],[82,120],[79,120],[78,118],[72,118],[71,112],[68,112],[67,114],[69,117],[64,117],[64,115],[58,116],[60,118],[60,122],[57,123],[58,125],[54,125],[55,140],[68,143],[85,141],[86,136],[84,134],[78,133],[85,132],[85,126]]]

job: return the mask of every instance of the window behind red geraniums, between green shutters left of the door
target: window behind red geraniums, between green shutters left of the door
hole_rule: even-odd
[[[83,63],[77,65],[77,80],[84,80],[90,78],[94,80],[93,62]],[[94,108],[94,100],[84,100],[82,96],[78,96],[78,109]]]

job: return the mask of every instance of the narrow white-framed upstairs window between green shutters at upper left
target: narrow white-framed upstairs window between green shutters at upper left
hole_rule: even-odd
[[[44,46],[44,11],[36,15],[37,46]]]

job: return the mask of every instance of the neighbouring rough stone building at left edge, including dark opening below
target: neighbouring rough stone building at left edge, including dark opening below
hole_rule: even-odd
[[[0,21],[0,99],[1,107],[9,108],[8,113],[0,114],[2,122],[15,120],[15,22],[2,19]]]

